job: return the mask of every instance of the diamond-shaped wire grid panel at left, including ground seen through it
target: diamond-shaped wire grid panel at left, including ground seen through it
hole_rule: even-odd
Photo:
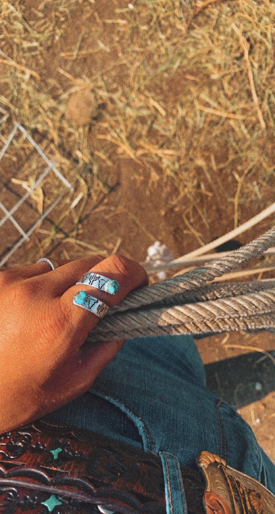
[[[3,109],[1,114],[0,124],[6,119]],[[20,145],[16,142],[18,137],[24,143],[26,140],[24,150],[22,140]],[[73,187],[22,125],[16,123],[7,139],[1,139],[4,144],[0,150],[0,212],[4,215],[0,227],[4,226],[4,235],[0,241],[0,266],[3,266],[23,243],[30,241],[32,232]]]

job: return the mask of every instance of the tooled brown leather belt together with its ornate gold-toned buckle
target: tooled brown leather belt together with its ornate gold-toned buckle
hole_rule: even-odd
[[[181,466],[188,514],[274,514],[275,497],[218,455]],[[165,514],[161,458],[101,434],[35,421],[0,436],[0,511]],[[176,514],[176,512],[174,512]]]

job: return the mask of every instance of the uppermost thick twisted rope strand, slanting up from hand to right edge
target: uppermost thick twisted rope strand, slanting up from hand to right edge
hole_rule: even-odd
[[[251,261],[258,255],[261,255],[267,248],[273,246],[274,241],[275,227],[251,243],[232,251],[230,255],[225,255],[220,259],[207,263],[204,267],[194,269],[163,282],[136,288],[118,305],[112,307],[109,313],[112,314],[116,311],[149,305],[155,301],[164,301],[165,303],[167,298],[173,297],[176,293],[201,287],[205,282],[212,281],[215,277],[221,277],[224,273],[228,273],[232,269]]]

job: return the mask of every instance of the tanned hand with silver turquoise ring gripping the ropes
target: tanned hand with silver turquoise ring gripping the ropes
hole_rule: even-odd
[[[99,321],[73,304],[78,290],[109,306],[148,284],[144,268],[122,255],[45,262],[0,272],[0,433],[29,423],[87,391],[123,341],[84,345]],[[75,285],[86,271],[120,283],[116,295]]]

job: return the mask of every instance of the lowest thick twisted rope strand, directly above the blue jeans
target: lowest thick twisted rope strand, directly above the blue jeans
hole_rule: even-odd
[[[235,327],[241,320],[245,323],[249,319],[251,322],[252,318],[264,314],[275,314],[275,288],[250,295],[175,305],[168,309],[160,307],[117,313],[101,320],[91,332],[89,341],[182,334],[183,329],[194,334],[205,328],[207,332],[220,332],[224,326],[232,329],[230,327]]]

